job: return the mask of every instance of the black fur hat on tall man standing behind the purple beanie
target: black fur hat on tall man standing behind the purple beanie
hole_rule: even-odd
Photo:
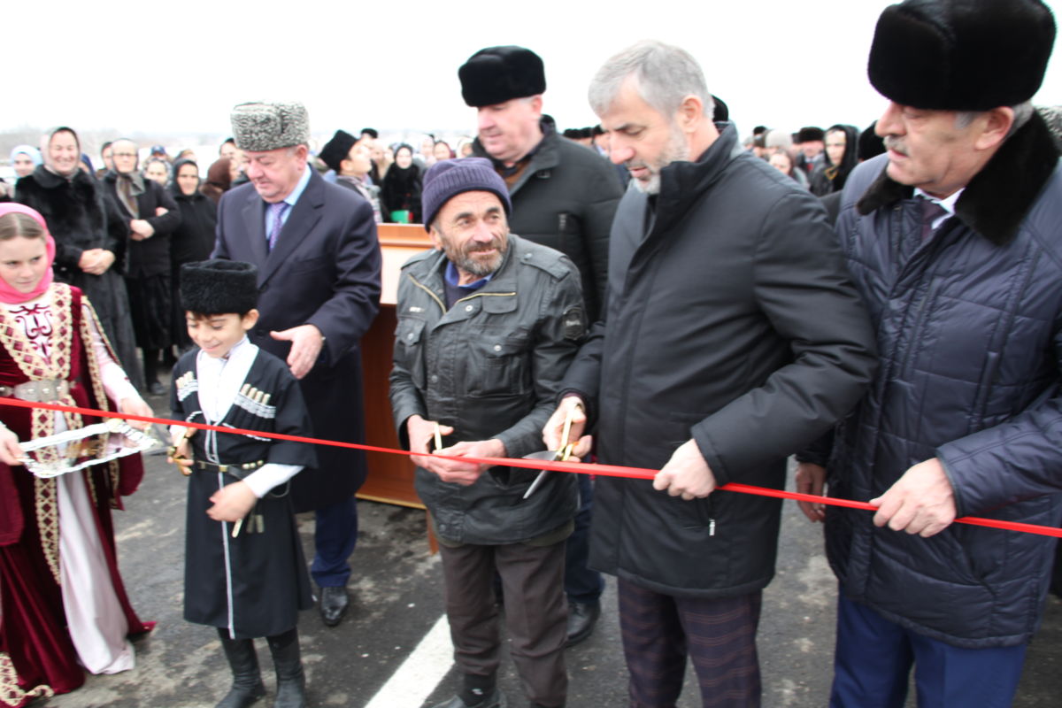
[[[477,108],[546,90],[542,58],[523,47],[481,49],[458,69],[458,77],[465,103]]]

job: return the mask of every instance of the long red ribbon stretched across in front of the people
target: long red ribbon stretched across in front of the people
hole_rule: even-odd
[[[73,405],[61,405],[59,403],[34,403],[20,400],[18,398],[0,398],[0,405],[14,405],[16,408],[39,408],[49,411],[62,411],[64,413],[80,413],[81,415],[92,415],[101,418],[121,418],[123,420],[139,420],[142,422],[155,422],[161,426],[184,426],[185,428],[198,428],[200,430],[213,430],[219,433],[235,433],[257,435],[259,437],[270,437],[277,441],[291,441],[293,443],[308,443],[310,445],[325,445],[329,447],[349,448],[353,450],[365,450],[367,452],[386,452],[388,454],[412,455],[409,450],[394,450],[374,445],[359,445],[358,443],[341,443],[338,441],[323,441],[318,437],[303,437],[301,435],[287,435],[285,433],[267,433],[260,430],[241,430],[239,428],[227,428],[222,426],[211,426],[205,422],[188,422],[184,420],[172,420],[169,418],[153,418],[143,415],[131,415],[127,413],[116,413],[113,411],[97,411],[89,408],[76,408]],[[621,477],[632,480],[651,480],[660,470],[646,469],[641,467],[620,467],[619,465],[598,465],[577,462],[544,462],[542,460],[524,460],[509,457],[459,457],[451,455],[435,455],[446,460],[457,460],[463,462],[476,462],[484,465],[506,465],[509,467],[524,467],[526,469],[549,469],[558,472],[576,472],[579,474],[601,474],[603,477]],[[876,506],[864,501],[854,501],[852,499],[837,499],[834,497],[819,497],[816,495],[805,495],[799,491],[785,491],[783,489],[771,489],[769,487],[756,487],[750,484],[738,484],[730,482],[717,491],[736,491],[738,494],[756,495],[758,497],[773,497],[775,499],[792,499],[794,501],[807,501],[815,504],[828,504],[830,506],[846,506],[849,508],[860,508],[868,512],[877,511]],[[989,529],[1003,529],[1005,531],[1018,531],[1026,534],[1038,534],[1040,536],[1054,536],[1062,538],[1062,529],[1042,526],[1034,523],[1020,523],[1017,521],[1003,521],[1000,519],[983,519],[976,516],[963,516],[955,520],[956,523],[966,523],[974,526],[987,526]]]

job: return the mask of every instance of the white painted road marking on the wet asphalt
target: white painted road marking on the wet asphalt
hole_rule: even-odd
[[[450,625],[443,615],[365,708],[422,706],[452,666]]]

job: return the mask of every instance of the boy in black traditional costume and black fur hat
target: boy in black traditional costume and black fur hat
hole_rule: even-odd
[[[196,345],[173,369],[175,417],[225,428],[310,435],[287,364],[246,336],[258,321],[257,269],[208,260],[181,269],[181,301]],[[276,668],[276,708],[306,705],[297,615],[312,606],[288,482],[313,448],[252,433],[174,426],[170,459],[190,474],[185,619],[218,627],[233,688],[218,708],[266,694],[253,639]]]

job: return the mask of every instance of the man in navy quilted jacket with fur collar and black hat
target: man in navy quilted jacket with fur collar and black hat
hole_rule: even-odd
[[[878,374],[798,488],[876,514],[826,522],[840,581],[830,706],[1010,706],[1054,541],[953,523],[1062,521],[1062,169],[1029,103],[1055,21],[1039,0],[905,0],[869,73],[886,155],[837,232],[877,334]]]

